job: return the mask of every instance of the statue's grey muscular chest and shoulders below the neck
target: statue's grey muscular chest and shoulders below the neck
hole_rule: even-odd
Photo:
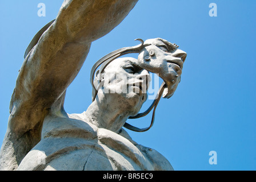
[[[71,118],[48,117],[42,139],[18,170],[173,170],[157,151],[120,134]]]

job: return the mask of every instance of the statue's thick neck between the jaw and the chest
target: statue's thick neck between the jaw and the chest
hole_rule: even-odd
[[[126,112],[111,106],[101,108],[97,101],[94,101],[86,110],[86,116],[93,125],[119,133],[129,117]]]

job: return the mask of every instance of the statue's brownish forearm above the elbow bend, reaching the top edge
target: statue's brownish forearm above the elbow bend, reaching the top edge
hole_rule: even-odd
[[[93,42],[109,33],[138,0],[66,0],[57,22],[78,42]]]

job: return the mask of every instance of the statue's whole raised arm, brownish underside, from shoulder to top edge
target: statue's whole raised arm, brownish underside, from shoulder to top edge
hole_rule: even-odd
[[[91,42],[116,27],[138,0],[65,0],[53,24],[26,57],[10,103],[0,169],[13,170],[41,138],[49,112],[61,115],[67,86]]]

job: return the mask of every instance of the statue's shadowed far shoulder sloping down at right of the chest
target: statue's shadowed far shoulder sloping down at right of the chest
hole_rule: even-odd
[[[171,166],[170,162],[160,154],[158,151],[154,150],[153,148],[150,147],[145,147],[141,144],[138,144],[137,142],[134,142],[134,140],[130,137],[130,135],[122,129],[120,135],[123,137],[129,139],[130,142],[132,142],[138,149],[139,151],[142,152],[142,154],[150,160],[150,163],[153,165],[154,170],[159,170],[159,171],[173,171],[173,167]]]

